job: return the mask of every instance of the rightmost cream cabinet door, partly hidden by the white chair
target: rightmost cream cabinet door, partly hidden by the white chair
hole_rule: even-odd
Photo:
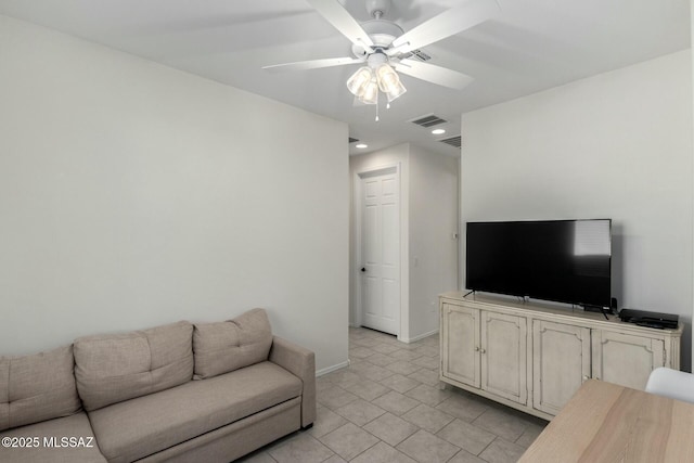
[[[593,377],[643,390],[648,375],[665,363],[661,339],[593,330]]]

